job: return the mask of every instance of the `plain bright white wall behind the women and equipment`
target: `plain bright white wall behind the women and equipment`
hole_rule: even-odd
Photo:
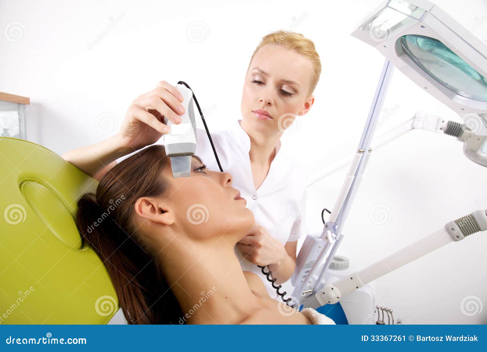
[[[350,33],[380,2],[1,0],[0,28],[19,21],[25,37],[0,37],[0,91],[31,98],[28,139],[58,154],[115,133],[131,101],[159,80],[186,81],[205,109],[214,106],[210,130],[223,130],[240,118],[243,79],[260,38],[294,30],[315,42],[323,71],[313,109],[283,138],[314,174],[358,145],[383,57]],[[468,29],[487,16],[484,0],[437,2]],[[191,26],[202,29],[203,40],[187,34]],[[475,34],[487,38],[487,24]],[[384,109],[396,104],[380,131],[420,109],[457,119],[397,70]],[[115,116],[108,133],[95,127],[102,113]],[[333,207],[345,171],[310,187],[310,232],[321,230],[321,208]],[[487,208],[485,180],[486,169],[464,157],[452,137],[410,132],[374,152],[337,254],[360,269],[479,204]],[[371,221],[375,204],[389,207],[389,222]],[[486,246],[485,235],[472,236],[376,280],[377,301],[396,290],[384,305],[405,323],[487,323],[487,307],[473,316],[460,307],[467,296],[487,304]]]

